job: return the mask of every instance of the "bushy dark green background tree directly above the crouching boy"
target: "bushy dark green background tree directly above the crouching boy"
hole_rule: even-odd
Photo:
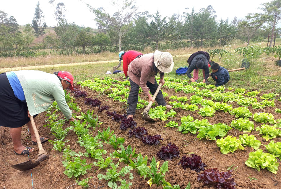
[[[217,36],[220,46],[231,42],[235,38],[235,35],[236,28],[232,24],[228,24],[228,19],[220,19],[217,23]]]

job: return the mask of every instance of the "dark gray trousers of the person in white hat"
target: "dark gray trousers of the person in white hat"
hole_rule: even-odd
[[[130,91],[129,97],[128,97],[128,103],[127,103],[128,107],[126,110],[126,114],[135,115],[136,109],[137,109],[137,103],[139,100],[139,85],[136,84],[135,82],[131,81],[131,79],[130,79],[130,84],[131,84],[131,91]],[[156,79],[154,80],[154,84],[147,82],[146,85],[150,89],[151,94],[154,94],[158,87]],[[167,102],[165,101],[161,90],[159,90],[155,100],[158,103],[158,106],[167,105]]]

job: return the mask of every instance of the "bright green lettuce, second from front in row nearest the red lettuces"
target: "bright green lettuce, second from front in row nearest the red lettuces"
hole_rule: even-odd
[[[218,139],[216,141],[217,146],[220,147],[220,152],[222,154],[228,154],[229,152],[234,153],[235,150],[241,149],[244,150],[244,147],[241,145],[241,141],[236,139],[236,137],[226,136],[224,139]]]

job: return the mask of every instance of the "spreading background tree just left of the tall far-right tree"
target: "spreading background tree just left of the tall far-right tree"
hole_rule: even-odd
[[[245,19],[237,26],[238,37],[250,43],[257,31],[262,27],[266,20],[263,14],[250,13],[245,16]]]

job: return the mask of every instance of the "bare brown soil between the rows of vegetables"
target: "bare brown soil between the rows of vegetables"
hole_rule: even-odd
[[[99,100],[102,101],[102,105],[108,105],[109,111],[115,110],[119,114],[125,113],[126,105],[125,102],[117,102],[113,101],[112,98],[108,98],[105,96],[100,95],[99,92],[92,91],[88,89],[87,87],[83,88],[82,90],[87,91],[88,97],[98,97]],[[169,96],[175,95],[174,89],[163,89],[164,92],[167,92]],[[176,93],[178,97],[180,96],[187,96],[190,97],[191,94],[185,94],[183,92]],[[259,94],[259,96],[262,94]],[[141,94],[142,99],[146,99]],[[165,97],[166,101],[171,101],[168,99],[168,97]],[[204,97],[205,98],[205,97]],[[259,98],[257,98],[259,99]],[[260,99],[259,99],[260,100]],[[97,131],[102,131],[103,128],[107,128],[110,126],[111,130],[114,130],[114,133],[116,136],[121,136],[125,138],[124,146],[131,145],[132,147],[136,146],[136,153],[141,152],[142,155],[147,155],[149,161],[151,161],[152,157],[154,156],[156,158],[156,161],[160,161],[160,165],[163,164],[163,160],[159,159],[156,156],[156,153],[160,150],[162,145],[167,145],[169,142],[176,144],[179,147],[180,150],[180,157],[183,155],[189,156],[191,153],[195,153],[202,157],[202,162],[206,164],[206,168],[218,168],[220,171],[226,171],[226,167],[231,166],[235,164],[233,167],[238,168],[232,172],[232,177],[235,178],[236,182],[236,188],[237,189],[260,189],[260,188],[270,188],[270,189],[278,189],[281,188],[281,167],[279,167],[279,170],[277,171],[277,174],[273,174],[269,172],[268,170],[261,170],[258,172],[256,169],[252,169],[250,167],[247,167],[245,164],[245,161],[248,159],[248,154],[252,151],[254,151],[253,148],[245,147],[245,150],[237,150],[233,154],[230,152],[229,154],[222,154],[219,150],[219,148],[216,145],[215,141],[207,141],[207,140],[197,140],[196,135],[188,133],[188,134],[182,134],[177,132],[176,128],[169,128],[164,127],[165,123],[168,123],[168,121],[159,121],[159,122],[148,122],[141,119],[141,113],[144,110],[143,108],[140,110],[137,110],[136,115],[134,117],[134,120],[137,122],[137,126],[145,127],[149,134],[155,135],[155,134],[161,134],[164,140],[161,142],[160,146],[149,146],[146,144],[143,144],[141,140],[135,138],[135,137],[128,137],[128,131],[121,131],[119,130],[120,123],[117,123],[113,120],[111,120],[108,116],[106,116],[105,111],[102,113],[98,113],[98,107],[90,107],[89,105],[84,104],[84,100],[82,97],[77,98],[75,100],[75,103],[78,103],[79,107],[81,108],[81,112],[85,113],[87,110],[94,110],[94,114],[99,116],[99,121],[102,121],[103,124],[98,128],[96,128],[95,131],[93,131],[93,136],[97,135]],[[232,103],[233,107],[238,107],[236,103]],[[281,102],[278,100],[275,100],[276,107],[281,107]],[[200,108],[200,105],[199,105]],[[263,110],[253,110],[251,107],[249,107],[249,110],[254,114],[256,112],[267,112],[272,113],[274,115],[274,119],[280,119],[281,114],[274,112],[275,107],[265,107]],[[178,109],[177,115],[175,118],[172,118],[171,120],[175,120],[178,123],[180,123],[180,118],[182,116],[191,115],[194,117],[194,119],[203,119],[201,115],[195,112],[185,111]],[[77,113],[80,114],[80,113]],[[60,118],[63,118],[63,115],[60,115]],[[215,116],[212,118],[206,117],[211,124],[214,123],[226,123],[230,125],[231,121],[235,119],[234,115],[230,115],[228,113],[223,113],[216,111]],[[49,136],[50,139],[54,140],[54,136],[51,135],[50,129],[48,127],[43,127],[43,125],[46,124],[45,120],[46,112],[41,113],[38,116],[38,131],[41,136]],[[251,121],[252,118],[250,118]],[[169,120],[170,121],[170,120]],[[261,125],[261,123],[254,122],[255,126]],[[65,127],[69,126],[68,122],[65,122]],[[27,138],[27,127],[24,126],[22,129],[22,143],[24,145],[33,146],[35,147],[35,151],[30,154],[30,159],[36,159],[38,154],[38,147],[35,145],[30,144],[30,138]],[[239,136],[240,134],[243,134],[243,132],[232,129],[229,131],[228,135],[233,136]],[[265,141],[265,139],[261,138],[260,135],[258,135],[257,131],[252,131],[250,134],[253,134],[256,136],[258,140],[261,141],[262,144],[268,144],[269,141]],[[70,140],[66,143],[66,145],[70,145],[71,149],[78,152],[85,152],[84,147],[80,147],[77,143],[77,135],[70,131],[68,135],[66,136],[67,140]],[[31,178],[31,172],[21,172],[18,170],[13,169],[10,167],[12,164],[18,164],[20,162],[25,162],[28,160],[28,156],[17,156],[13,152],[13,144],[11,141],[11,137],[9,135],[9,128],[1,127],[0,128],[0,141],[1,141],[1,153],[0,153],[0,188],[4,189],[16,189],[16,188],[36,188],[36,189],[46,189],[46,188],[58,188],[58,189],[66,189],[68,186],[75,184],[75,180],[73,178],[68,178],[66,175],[64,175],[65,168],[62,165],[62,152],[52,150],[52,145],[48,142],[43,144],[43,148],[46,150],[48,154],[50,154],[50,158],[44,162],[42,162],[38,167],[34,168],[32,170],[32,178]],[[275,142],[281,142],[281,138],[274,139]],[[107,154],[104,155],[104,157],[109,156],[109,153],[112,153],[114,151],[113,147],[104,144],[104,149],[107,150]],[[266,152],[265,147],[262,145],[261,149]],[[92,163],[93,159],[86,158],[87,163]],[[115,162],[117,162],[117,159],[114,159]],[[209,185],[203,185],[202,182],[197,181],[197,173],[192,170],[184,170],[181,165],[178,165],[179,159],[173,159],[169,161],[169,172],[166,173],[165,180],[170,182],[170,184],[175,185],[179,184],[180,187],[183,189],[186,187],[188,182],[191,183],[192,189],[199,189],[199,188],[211,188],[215,189],[214,186]],[[280,160],[278,159],[278,162],[280,164]],[[121,166],[125,166],[123,163],[120,164]],[[97,175],[99,173],[105,174],[105,170],[98,170],[98,167],[92,167],[90,171],[86,175],[83,175],[79,178],[79,180],[82,180],[83,178],[87,177],[94,177],[89,181],[90,188],[108,188],[107,182],[105,180],[98,180]],[[147,180],[143,180],[143,177],[140,177],[137,175],[135,171],[131,171],[133,173],[134,179],[129,180],[126,176],[127,181],[130,181],[133,183],[133,185],[130,188],[150,188],[147,184]],[[249,177],[256,178],[257,180],[251,180]],[[33,179],[33,185],[32,185],[32,179]],[[80,186],[73,185],[69,189],[80,189]],[[157,187],[156,185],[152,185],[152,188],[162,188]]]

